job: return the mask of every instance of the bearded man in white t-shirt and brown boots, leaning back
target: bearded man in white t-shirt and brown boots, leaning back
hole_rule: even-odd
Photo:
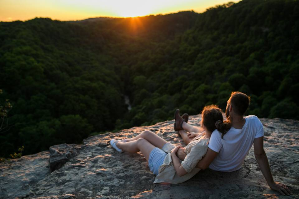
[[[292,194],[284,184],[274,182],[267,155],[263,149],[263,125],[254,115],[243,117],[250,103],[250,97],[241,92],[232,92],[227,101],[225,116],[231,124],[231,128],[225,135],[220,132],[212,133],[206,155],[197,164],[200,169],[210,168],[216,171],[231,172],[241,168],[245,156],[254,144],[254,155],[269,187],[279,191],[282,195]],[[183,140],[188,143],[202,129],[187,124],[187,118],[181,118],[179,113],[175,115],[175,130],[179,131]],[[192,133],[186,133],[184,130]],[[177,153],[180,159],[186,154],[183,150]]]

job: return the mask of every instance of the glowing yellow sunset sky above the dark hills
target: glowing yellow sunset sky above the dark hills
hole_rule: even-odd
[[[206,8],[230,0],[0,0],[0,21],[26,21],[35,17],[73,21],[92,17],[134,17]]]

